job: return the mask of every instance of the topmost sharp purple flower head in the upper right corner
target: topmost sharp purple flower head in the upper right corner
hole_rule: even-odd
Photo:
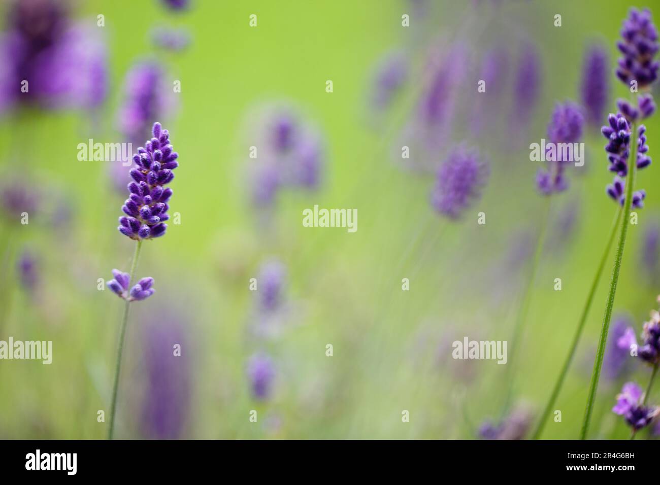
[[[638,11],[630,9],[630,15],[624,20],[621,30],[622,41],[616,46],[623,54],[618,61],[616,76],[630,86],[637,81],[640,88],[648,86],[657,79],[660,63],[653,61],[658,51],[658,34],[648,9]]]

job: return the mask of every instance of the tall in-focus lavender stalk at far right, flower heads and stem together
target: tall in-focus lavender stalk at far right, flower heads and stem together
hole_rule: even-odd
[[[639,88],[648,88],[657,79],[657,71],[660,67],[653,56],[658,51],[657,31],[651,22],[651,13],[648,10],[642,12],[632,9],[630,16],[624,21],[621,30],[622,42],[617,44],[623,54],[619,59],[617,77],[626,85],[637,85]],[[642,207],[645,196],[644,191],[634,192],[635,175],[638,168],[648,166],[651,159],[645,155],[648,147],[645,146],[645,127],[638,124],[638,119],[648,117],[655,110],[650,95],[638,98],[638,108],[633,108],[628,102],[620,100],[618,103],[620,113],[609,116],[609,126],[603,127],[603,135],[609,139],[605,150],[609,153],[610,170],[617,174],[612,185],[607,188],[607,193],[616,201],[623,204],[622,225],[614,257],[614,268],[610,289],[605,304],[605,315],[598,341],[596,358],[589,383],[589,394],[585,405],[584,418],[580,430],[580,439],[585,439],[589,432],[593,404],[598,389],[598,382],[603,366],[605,355],[605,344],[607,333],[612,318],[612,307],[616,296],[616,286],[621,271],[626,236],[632,207]],[[639,127],[639,130],[638,130]],[[632,145],[632,149],[630,149]],[[630,163],[628,163],[630,160]],[[626,177],[624,182],[622,178]],[[624,194],[625,191],[625,194]]]

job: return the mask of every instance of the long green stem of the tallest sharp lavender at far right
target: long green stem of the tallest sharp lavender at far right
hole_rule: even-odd
[[[635,186],[635,173],[637,170],[637,123],[632,123],[630,131],[630,139],[632,140],[632,152],[628,158],[628,180],[626,180],[626,201],[623,207],[623,220],[621,224],[621,233],[619,236],[618,247],[616,248],[616,257],[614,259],[614,269],[612,269],[612,280],[610,282],[610,292],[607,295],[607,303],[605,304],[605,315],[603,316],[603,327],[601,327],[601,336],[598,340],[598,350],[596,351],[596,359],[593,362],[593,372],[591,373],[591,383],[589,383],[589,396],[587,397],[587,404],[584,410],[584,420],[580,430],[580,439],[587,438],[589,431],[589,422],[591,421],[591,413],[593,412],[593,403],[596,399],[596,390],[598,389],[598,381],[601,377],[601,368],[603,367],[603,356],[605,355],[605,344],[607,343],[607,332],[610,327],[610,320],[612,318],[612,307],[614,307],[614,296],[616,295],[616,284],[618,283],[619,272],[621,271],[621,260],[623,259],[623,250],[626,245],[626,235],[628,234],[628,226],[630,225],[630,205],[632,204],[632,192]]]

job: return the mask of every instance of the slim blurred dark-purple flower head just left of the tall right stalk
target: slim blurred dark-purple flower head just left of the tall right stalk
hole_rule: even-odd
[[[601,46],[592,46],[584,59],[581,100],[587,121],[599,125],[609,98],[609,61]]]

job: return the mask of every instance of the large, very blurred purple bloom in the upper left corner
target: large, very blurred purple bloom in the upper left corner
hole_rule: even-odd
[[[61,0],[14,1],[9,7],[8,30],[0,36],[0,111],[19,103],[96,108],[105,100],[104,42],[98,29],[71,22],[68,10]]]

